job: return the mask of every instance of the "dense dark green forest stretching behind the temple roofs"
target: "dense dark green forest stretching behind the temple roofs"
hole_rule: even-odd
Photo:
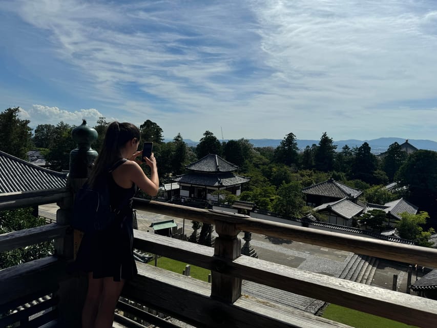
[[[70,151],[76,148],[71,138],[75,126],[59,122],[38,125],[34,131],[30,121],[20,119],[18,108],[0,113],[0,150],[27,159],[30,149],[38,149],[55,171],[68,170]],[[137,124],[143,141],[154,142],[161,183],[185,172],[185,165],[211,153],[239,167],[239,175],[249,177],[240,200],[256,203],[259,209],[286,216],[301,216],[310,211],[305,207],[302,188],[333,178],[363,191],[362,201],[383,204],[404,197],[429,214],[415,217],[425,228],[437,226],[437,152],[419,150],[407,155],[397,142],[390,145],[385,156],[372,154],[364,142],[360,147],[347,145],[337,149],[332,138],[323,132],[318,144],[300,151],[297,137],[289,132],[276,148],[254,147],[241,138],[220,142],[205,131],[196,147],[189,147],[178,133],[172,141],[164,142],[163,130],[156,122],[146,120]],[[108,122],[100,117],[94,129],[98,139],[92,148],[99,151]],[[397,181],[399,188],[388,191],[387,183]],[[228,195],[226,201],[236,197]]]

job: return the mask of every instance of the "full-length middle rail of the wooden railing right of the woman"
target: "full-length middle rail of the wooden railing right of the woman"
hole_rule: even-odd
[[[305,272],[244,255],[233,261],[226,261],[214,256],[213,249],[209,247],[143,231],[135,231],[134,237],[135,247],[224,275],[251,280],[407,324],[432,327],[437,322],[437,301],[434,300]]]

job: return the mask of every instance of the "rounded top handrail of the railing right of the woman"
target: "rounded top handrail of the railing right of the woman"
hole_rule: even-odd
[[[437,249],[376,240],[361,236],[291,226],[285,223],[254,219],[234,213],[212,212],[176,204],[135,199],[135,208],[200,222],[225,221],[234,223],[241,231],[300,241],[333,249],[385,258],[425,267],[437,268]]]

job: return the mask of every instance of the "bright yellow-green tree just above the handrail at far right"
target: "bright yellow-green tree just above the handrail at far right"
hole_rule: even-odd
[[[415,241],[419,246],[431,247],[429,237],[435,232],[433,228],[423,231],[421,224],[425,224],[429,218],[427,212],[421,211],[419,214],[401,213],[401,220],[396,224],[396,229],[401,238]]]

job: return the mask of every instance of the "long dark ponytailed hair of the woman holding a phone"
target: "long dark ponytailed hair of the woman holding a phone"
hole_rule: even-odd
[[[107,172],[118,159],[121,159],[121,149],[133,138],[140,139],[139,129],[132,123],[112,122],[106,130],[105,139],[100,154],[94,162],[90,174],[90,185],[102,174]]]

